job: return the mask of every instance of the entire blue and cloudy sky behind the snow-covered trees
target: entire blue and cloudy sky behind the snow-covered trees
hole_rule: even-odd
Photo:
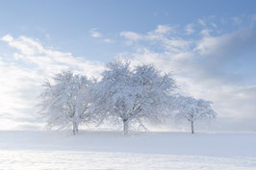
[[[212,101],[211,131],[256,131],[256,1],[10,0],[0,22],[0,130],[41,128],[45,79],[63,69],[99,77],[121,58]]]

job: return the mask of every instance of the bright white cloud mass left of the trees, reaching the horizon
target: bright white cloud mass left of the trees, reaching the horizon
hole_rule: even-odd
[[[38,40],[27,36],[14,38],[7,35],[1,40],[16,52],[8,56],[0,54],[0,119],[6,122],[1,123],[0,129],[38,125],[35,105],[45,79],[63,69],[89,77],[98,76],[104,68],[101,62],[44,47]],[[22,121],[24,118],[30,122]]]

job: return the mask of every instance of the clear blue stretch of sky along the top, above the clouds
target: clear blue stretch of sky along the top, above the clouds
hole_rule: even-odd
[[[239,17],[255,12],[255,1],[2,1],[1,35],[30,36],[76,56],[111,61],[127,49],[91,39],[97,28],[111,38],[122,31],[145,33],[157,25],[185,27],[198,18]],[[221,28],[234,31],[233,25]],[[119,45],[118,45],[119,44]],[[116,48],[116,45],[117,48]],[[101,51],[104,51],[102,53]]]

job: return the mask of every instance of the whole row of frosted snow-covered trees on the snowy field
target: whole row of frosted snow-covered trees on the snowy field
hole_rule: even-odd
[[[175,93],[177,85],[170,74],[153,65],[131,68],[129,61],[114,61],[106,66],[100,80],[63,71],[46,81],[40,95],[40,115],[48,127],[72,127],[78,133],[80,124],[122,124],[123,133],[145,123],[160,124],[167,118],[212,119],[216,112],[211,102]]]

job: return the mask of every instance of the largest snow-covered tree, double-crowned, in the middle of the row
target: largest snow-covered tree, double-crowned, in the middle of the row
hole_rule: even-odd
[[[128,61],[114,61],[93,89],[91,109],[102,120],[121,121],[127,134],[134,125],[145,129],[144,121],[159,120],[174,88],[171,77],[162,76],[152,65],[142,64],[131,70]]]

